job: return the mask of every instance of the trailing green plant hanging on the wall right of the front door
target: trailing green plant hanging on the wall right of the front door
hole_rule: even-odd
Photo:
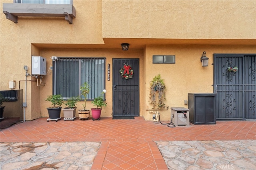
[[[156,102],[156,94],[158,93],[158,102]],[[152,81],[150,81],[150,104],[153,105],[153,108],[162,109],[165,108],[164,101],[166,86],[164,83],[164,79],[161,79],[161,75],[156,75]]]

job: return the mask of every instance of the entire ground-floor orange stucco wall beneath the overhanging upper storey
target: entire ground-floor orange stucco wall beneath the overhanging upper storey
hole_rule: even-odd
[[[52,63],[51,56],[106,57],[106,64],[110,63],[111,71],[112,67],[114,67],[112,65],[112,58],[120,56],[124,58],[139,58],[140,116],[150,120],[152,117],[147,109],[152,109],[152,105],[149,104],[149,89],[150,81],[154,76],[161,74],[162,79],[166,83],[167,107],[187,108],[188,106],[184,104],[184,100],[188,100],[188,93],[213,93],[213,65],[211,65],[213,63],[213,53],[255,53],[253,47],[255,45],[151,45],[145,49],[146,56],[144,56],[144,50],[142,49],[129,49],[129,53],[121,49],[43,49],[40,55],[46,57],[48,67]],[[207,51],[206,55],[210,58],[208,67],[201,66],[200,56],[203,51]],[[175,55],[176,63],[153,64],[152,55],[156,54]],[[110,79],[111,81],[106,81],[106,101],[108,105],[103,109],[102,117],[112,117],[112,74]],[[48,117],[46,107],[49,106],[49,103],[44,102],[44,99],[52,93],[52,71],[48,72],[43,78],[43,85],[42,87],[36,87],[36,83],[34,83],[31,88],[34,91],[36,91],[35,89],[40,89],[41,116]],[[32,100],[32,105],[34,105],[33,103],[37,104],[38,100]],[[90,101],[87,103],[87,108],[93,107]],[[82,102],[79,102],[77,106],[78,109],[82,109]],[[160,112],[162,120],[170,119],[170,109],[161,110]],[[63,115],[61,116],[63,117]]]

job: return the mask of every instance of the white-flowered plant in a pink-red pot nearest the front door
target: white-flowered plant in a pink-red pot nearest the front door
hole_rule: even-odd
[[[94,101],[92,101],[93,105],[96,106],[96,108],[92,108],[92,120],[98,119],[100,120],[101,110],[102,107],[106,107],[108,103],[104,101],[103,94],[106,93],[106,90],[104,89],[103,92],[100,94],[100,96],[94,98]]]

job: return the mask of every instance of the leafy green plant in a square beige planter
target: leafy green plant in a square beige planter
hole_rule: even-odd
[[[76,119],[76,103],[80,101],[80,97],[70,97],[64,104],[63,108],[64,121]]]

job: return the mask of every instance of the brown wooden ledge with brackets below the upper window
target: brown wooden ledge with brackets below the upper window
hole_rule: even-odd
[[[18,23],[18,16],[65,17],[69,24],[76,17],[72,4],[17,4],[4,3],[3,12],[8,20]]]

